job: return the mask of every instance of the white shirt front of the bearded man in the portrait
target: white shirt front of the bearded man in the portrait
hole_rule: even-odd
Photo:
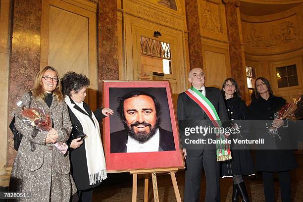
[[[152,136],[151,139],[145,143],[140,143],[138,140],[134,139],[131,136],[127,137],[127,153],[132,152],[158,152],[159,151],[159,139],[160,133],[157,129],[156,133]]]

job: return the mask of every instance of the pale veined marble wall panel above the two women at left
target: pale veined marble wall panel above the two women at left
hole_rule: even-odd
[[[67,71],[89,78],[89,19],[50,5],[49,65],[63,76]]]

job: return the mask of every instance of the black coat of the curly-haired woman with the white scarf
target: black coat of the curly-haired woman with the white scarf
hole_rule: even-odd
[[[75,103],[72,99],[70,99],[71,103]],[[83,114],[89,116],[91,120],[93,121],[92,118],[92,110],[89,107],[87,103],[83,103],[83,107],[86,110],[88,114],[86,114],[77,104],[75,104],[74,108],[77,109],[78,111],[82,112]],[[72,112],[72,110],[68,107],[69,111],[69,116],[72,124],[77,125],[79,130],[83,132],[82,125],[80,121],[77,119],[75,114]],[[96,116],[98,121],[101,121],[102,118],[105,116],[102,114],[102,109],[98,108],[95,112],[94,115]],[[94,121],[93,121],[94,123]],[[72,135],[70,135],[70,139],[67,141],[68,145],[70,145],[72,139]],[[94,185],[90,185],[90,180],[89,180],[89,174],[88,174],[88,169],[87,169],[87,162],[86,162],[86,152],[85,152],[85,139],[83,140],[83,144],[77,148],[77,149],[70,149],[69,152],[69,158],[71,162],[71,174],[73,176],[73,179],[76,183],[77,189],[78,190],[87,190],[90,188],[97,187],[100,185],[101,182],[97,182]]]

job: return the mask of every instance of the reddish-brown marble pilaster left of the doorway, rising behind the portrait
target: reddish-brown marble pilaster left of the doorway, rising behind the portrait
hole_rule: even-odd
[[[102,103],[102,80],[119,80],[117,1],[99,1],[98,92]]]

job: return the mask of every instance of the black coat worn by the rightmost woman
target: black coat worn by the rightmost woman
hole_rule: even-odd
[[[266,101],[262,97],[253,100],[249,106],[250,113],[254,120],[273,120],[274,113],[278,111],[286,101],[281,97],[270,95]],[[265,121],[260,122],[256,129],[256,135],[270,136],[268,129],[264,124]],[[271,124],[272,121],[268,123]],[[268,124],[267,124],[268,125]],[[292,170],[297,167],[295,155],[292,150],[279,150],[279,145],[285,145],[288,141],[287,128],[280,127],[278,129],[282,141],[278,137],[272,137],[272,141],[276,143],[277,150],[256,150],[255,151],[255,168],[259,171],[280,172]]]

